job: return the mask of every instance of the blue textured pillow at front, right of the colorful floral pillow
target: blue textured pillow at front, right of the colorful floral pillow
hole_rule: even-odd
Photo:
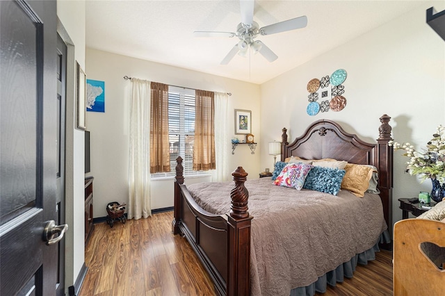
[[[303,188],[337,195],[345,173],[345,170],[330,167],[312,167],[312,170],[307,174]]]

